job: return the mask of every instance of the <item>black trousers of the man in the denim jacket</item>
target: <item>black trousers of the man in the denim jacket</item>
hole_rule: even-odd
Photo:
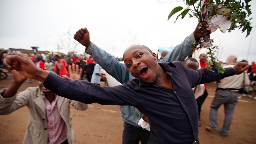
[[[124,122],[123,141],[122,144],[148,144],[150,132],[142,127],[136,128]]]

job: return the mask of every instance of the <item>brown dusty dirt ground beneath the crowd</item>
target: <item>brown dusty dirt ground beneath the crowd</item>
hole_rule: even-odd
[[[0,80],[0,89],[6,87],[12,80],[12,75],[7,79]],[[103,84],[102,84],[103,85]],[[37,86],[25,82],[20,90],[27,87]],[[201,112],[201,124],[199,127],[199,140],[201,144],[256,144],[256,100],[242,98],[236,105],[235,114],[230,127],[229,136],[223,138],[219,132],[207,132],[210,104],[212,102],[215,84],[208,84],[209,96],[204,102]],[[255,93],[253,93],[256,96]],[[118,144],[122,141],[123,121],[120,119],[118,106],[102,106],[91,104],[86,111],[75,110],[72,106],[70,117],[75,131],[75,144]],[[223,106],[219,109],[219,128],[224,119]],[[10,115],[0,116],[0,143],[16,144],[22,143],[28,123],[28,110],[26,107],[16,110]]]

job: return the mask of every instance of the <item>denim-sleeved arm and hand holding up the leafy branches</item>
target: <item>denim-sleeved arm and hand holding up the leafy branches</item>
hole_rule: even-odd
[[[192,54],[195,49],[195,44],[200,40],[202,36],[210,35],[210,31],[206,28],[209,27],[206,21],[201,22],[202,27],[196,26],[195,31],[187,36],[181,44],[175,46],[171,53],[168,53],[164,59],[159,62],[171,62],[171,61],[183,61],[188,55]]]

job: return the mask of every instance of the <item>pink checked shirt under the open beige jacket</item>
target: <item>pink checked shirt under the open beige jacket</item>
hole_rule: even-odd
[[[59,96],[55,95],[52,103],[49,102],[44,96],[47,124],[48,124],[48,144],[60,144],[67,140],[67,126],[61,118],[58,107],[57,99]]]

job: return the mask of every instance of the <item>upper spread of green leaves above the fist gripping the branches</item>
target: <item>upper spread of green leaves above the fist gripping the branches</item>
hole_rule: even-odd
[[[249,4],[251,0],[244,0],[244,2],[237,1],[237,0],[210,0],[206,5],[210,7],[210,11],[208,12],[208,19],[211,19],[212,16],[216,14],[220,14],[226,16],[228,20],[231,20],[230,28],[228,32],[231,30],[238,28],[242,29],[242,32],[247,32],[246,37],[250,35],[252,31],[251,20],[252,18],[248,18],[251,12],[251,5]],[[174,23],[178,20],[181,16],[183,19],[187,14],[189,17],[196,17],[199,22],[202,21],[201,18],[201,5],[202,0],[184,0],[184,4],[186,4],[187,8],[182,11],[177,17]],[[193,8],[190,8],[193,6]],[[221,6],[221,7],[220,7]],[[222,8],[227,8],[229,10],[218,12],[218,10]],[[168,20],[177,12],[181,11],[183,7],[178,6],[175,7],[169,14]]]

